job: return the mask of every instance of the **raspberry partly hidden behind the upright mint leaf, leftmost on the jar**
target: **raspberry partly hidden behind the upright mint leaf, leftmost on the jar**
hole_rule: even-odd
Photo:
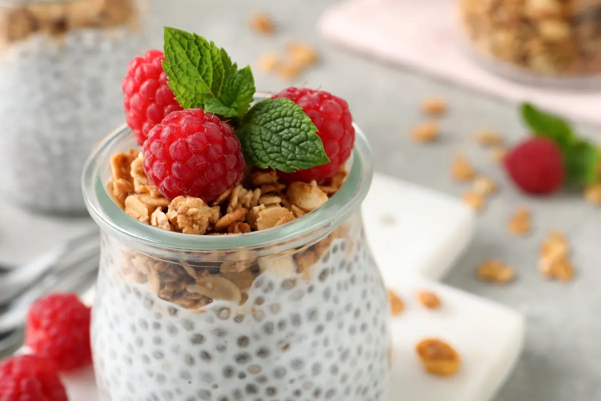
[[[167,75],[161,62],[162,51],[148,51],[144,57],[136,57],[127,67],[127,76],[121,88],[125,94],[123,106],[127,125],[133,130],[138,145],[142,146],[148,132],[170,112],[181,110],[175,95],[167,86]]]

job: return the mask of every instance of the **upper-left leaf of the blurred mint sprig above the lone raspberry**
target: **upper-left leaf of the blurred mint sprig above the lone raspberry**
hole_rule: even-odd
[[[521,106],[522,118],[537,136],[544,136],[557,143],[561,148],[571,145],[575,140],[572,127],[555,115],[538,110],[530,103]]]

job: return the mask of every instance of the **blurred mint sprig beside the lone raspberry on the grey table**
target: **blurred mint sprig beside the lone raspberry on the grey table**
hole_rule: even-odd
[[[584,186],[599,180],[598,145],[579,138],[572,126],[557,115],[543,112],[531,103],[523,103],[520,109],[534,135],[551,139],[560,148],[568,183]]]

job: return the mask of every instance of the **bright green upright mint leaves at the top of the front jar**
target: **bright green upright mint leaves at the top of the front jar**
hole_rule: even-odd
[[[224,49],[200,35],[165,27],[164,38],[163,70],[178,103],[185,109],[209,106],[215,114],[221,114],[216,109],[227,112],[224,117],[243,117],[255,93],[250,67],[238,70]]]

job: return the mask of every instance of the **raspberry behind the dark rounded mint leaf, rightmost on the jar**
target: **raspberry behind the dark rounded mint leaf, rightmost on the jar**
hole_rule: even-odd
[[[355,144],[355,128],[346,100],[326,91],[290,87],[273,96],[285,97],[303,108],[317,127],[317,135],[322,138],[323,147],[330,162],[321,166],[299,170],[295,173],[281,173],[285,182],[310,182],[334,176],[340,166],[347,161]]]

